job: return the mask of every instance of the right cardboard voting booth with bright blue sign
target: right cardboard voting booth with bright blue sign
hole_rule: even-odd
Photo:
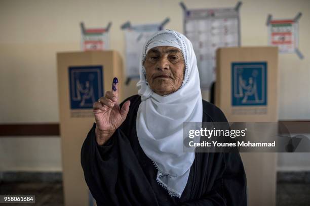
[[[278,48],[219,48],[215,105],[229,122],[278,122]],[[276,205],[277,153],[241,153],[248,205]]]

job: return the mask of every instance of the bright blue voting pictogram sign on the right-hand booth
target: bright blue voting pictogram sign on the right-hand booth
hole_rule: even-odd
[[[231,105],[267,105],[267,63],[231,63]]]

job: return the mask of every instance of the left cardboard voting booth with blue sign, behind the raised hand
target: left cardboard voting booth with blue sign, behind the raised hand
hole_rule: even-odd
[[[93,103],[118,77],[123,100],[123,63],[112,50],[58,53],[58,96],[65,205],[92,205],[84,179],[81,147],[95,119]]]

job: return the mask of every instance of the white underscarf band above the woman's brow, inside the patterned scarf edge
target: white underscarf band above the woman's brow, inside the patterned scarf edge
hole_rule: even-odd
[[[175,35],[172,33],[161,33],[148,41],[145,54],[147,54],[150,49],[158,46],[169,46],[182,50],[181,42]]]

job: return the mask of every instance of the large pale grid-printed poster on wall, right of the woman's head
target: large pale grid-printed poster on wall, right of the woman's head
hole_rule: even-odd
[[[216,49],[240,45],[240,5],[191,10],[183,7],[184,34],[195,50],[202,89],[209,90],[215,81]]]

